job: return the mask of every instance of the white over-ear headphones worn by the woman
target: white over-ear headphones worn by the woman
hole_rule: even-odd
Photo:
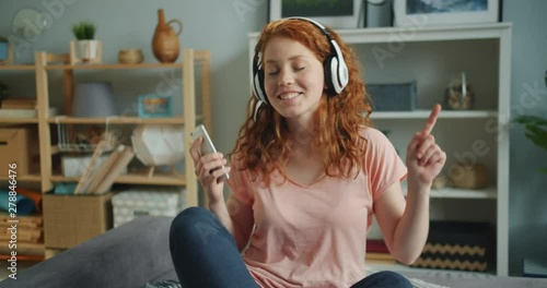
[[[348,67],[346,65],[346,61],[344,60],[344,56],[338,44],[333,39],[333,37],[330,37],[330,33],[327,31],[327,28],[318,22],[306,17],[288,19],[307,21],[317,26],[323,32],[323,34],[325,34],[328,43],[330,44],[330,55],[325,59],[325,62],[323,62],[323,67],[325,69],[325,84],[327,86],[327,95],[336,96],[340,94],[346,85],[348,85],[349,73]],[[264,88],[264,68],[263,57],[260,52],[257,52],[253,60],[253,91],[258,100],[269,104],[268,97],[266,96],[266,91]]]

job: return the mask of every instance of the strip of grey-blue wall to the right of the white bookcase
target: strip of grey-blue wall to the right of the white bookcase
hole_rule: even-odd
[[[511,117],[547,115],[545,12],[544,0],[503,1],[503,21],[513,22]],[[511,129],[510,141],[509,271],[521,275],[524,257],[547,259],[547,175],[536,171],[547,167],[547,152],[533,145],[520,125]]]

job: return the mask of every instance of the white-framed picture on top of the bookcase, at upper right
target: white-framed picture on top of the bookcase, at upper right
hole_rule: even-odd
[[[394,0],[394,26],[435,26],[499,22],[500,0]]]

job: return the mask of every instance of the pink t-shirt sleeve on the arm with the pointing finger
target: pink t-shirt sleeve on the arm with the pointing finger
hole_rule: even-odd
[[[372,199],[375,201],[387,188],[405,179],[407,168],[384,133],[366,128],[364,137],[366,140],[364,170]]]

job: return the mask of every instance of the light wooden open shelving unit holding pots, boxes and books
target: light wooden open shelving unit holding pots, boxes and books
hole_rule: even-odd
[[[176,63],[140,63],[140,64],[69,64],[70,57],[68,53],[54,55],[45,51],[35,53],[35,64],[9,64],[0,65],[0,73],[34,73],[36,85],[36,115],[35,118],[0,118],[0,127],[11,125],[34,125],[37,128],[39,136],[39,170],[31,175],[19,175],[18,182],[39,189],[42,193],[50,193],[58,182],[78,182],[79,177],[70,178],[60,175],[60,167],[55,157],[59,157],[61,152],[56,144],[57,132],[54,130],[56,124],[66,125],[92,125],[92,124],[116,124],[116,125],[138,125],[138,124],[166,124],[182,125],[186,140],[190,139],[190,132],[194,130],[197,122],[203,123],[207,129],[212,132],[212,110],[211,110],[211,53],[208,50],[184,49],[182,51],[182,61]],[[196,75],[196,67],[199,67],[199,74]],[[116,116],[108,118],[78,118],[71,117],[69,109],[62,111],[59,116],[49,115],[51,100],[62,98],[66,108],[71,106],[74,91],[74,82],[82,74],[102,73],[103,71],[112,71],[112,73],[124,73],[124,71],[152,70],[178,70],[182,73],[182,93],[173,97],[182,99],[182,115],[170,118],[139,118],[133,116]],[[59,77],[51,77],[50,73],[61,73],[62,83],[53,83],[59,81]],[[81,74],[81,72],[84,72]],[[127,74],[127,75],[126,75]],[[132,73],[124,73],[121,79],[130,79]],[[118,77],[119,79],[119,77]],[[196,81],[199,80],[199,86]],[[62,95],[50,94],[50,85],[59,85],[62,88]],[[53,85],[51,85],[53,86]],[[199,87],[196,91],[196,87]],[[197,97],[199,97],[199,106],[197,106]],[[186,144],[186,143],[185,143]],[[147,171],[133,171],[132,169],[125,175],[119,176],[115,183],[118,184],[139,184],[139,185],[175,185],[184,187],[186,190],[187,206],[197,206],[198,202],[198,182],[194,175],[193,161],[187,147],[185,148],[184,165],[188,167],[190,172],[171,172],[150,173]],[[0,177],[0,182],[8,181],[8,177]],[[48,212],[42,212],[45,215]],[[42,243],[44,245],[44,243]],[[53,256],[58,252],[55,248],[44,248],[45,256],[34,256],[36,261]]]

